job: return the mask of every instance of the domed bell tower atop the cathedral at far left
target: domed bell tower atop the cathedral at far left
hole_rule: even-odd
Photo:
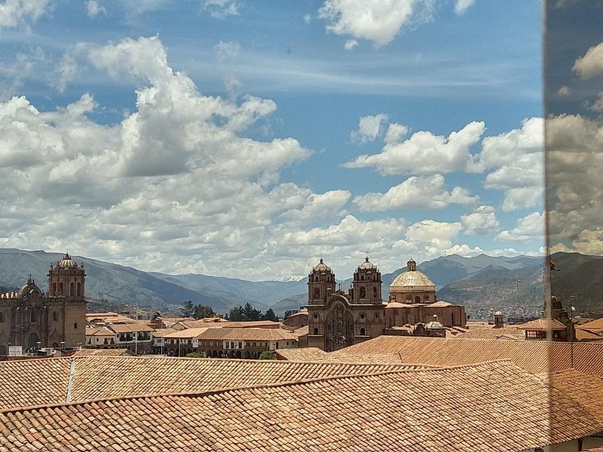
[[[71,259],[69,253],[66,253],[56,266],[50,265],[48,295],[49,297],[65,297],[66,301],[83,303],[85,280],[84,265],[78,266],[75,260]]]

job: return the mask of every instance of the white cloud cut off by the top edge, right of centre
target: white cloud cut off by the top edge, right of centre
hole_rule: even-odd
[[[318,17],[327,20],[327,30],[339,35],[373,41],[383,46],[404,26],[431,20],[432,0],[325,0]]]

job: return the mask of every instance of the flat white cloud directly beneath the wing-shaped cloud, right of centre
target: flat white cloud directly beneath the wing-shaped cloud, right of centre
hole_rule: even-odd
[[[361,212],[382,212],[393,209],[443,209],[449,204],[472,204],[478,196],[469,190],[454,187],[448,192],[441,174],[409,177],[385,193],[356,196],[354,204]]]

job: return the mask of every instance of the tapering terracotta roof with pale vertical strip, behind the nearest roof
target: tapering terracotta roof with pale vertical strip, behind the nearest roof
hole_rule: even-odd
[[[204,392],[409,368],[400,363],[362,365],[128,356],[5,361],[0,362],[0,409],[64,403],[72,362],[75,363],[71,391],[74,402],[142,394]]]

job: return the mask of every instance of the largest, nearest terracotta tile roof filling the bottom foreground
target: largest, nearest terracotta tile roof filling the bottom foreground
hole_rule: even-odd
[[[215,362],[215,360],[214,360]],[[0,451],[509,452],[592,435],[597,413],[510,362],[0,412]]]

